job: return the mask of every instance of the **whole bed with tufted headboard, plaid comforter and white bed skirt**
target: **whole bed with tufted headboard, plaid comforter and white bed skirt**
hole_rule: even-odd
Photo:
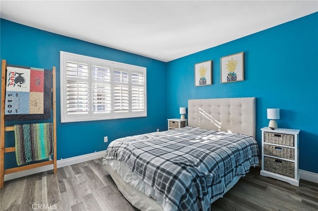
[[[114,140],[103,164],[142,211],[209,211],[258,165],[255,98],[188,101],[188,126]]]

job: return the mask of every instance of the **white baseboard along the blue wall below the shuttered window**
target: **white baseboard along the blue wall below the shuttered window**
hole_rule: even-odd
[[[106,153],[106,151],[104,150],[104,151],[90,153],[90,154],[86,154],[86,155],[82,155],[82,156],[60,159],[60,160],[56,161],[56,164],[57,164],[58,168],[61,168],[64,166],[73,165],[76,163],[85,162],[85,161],[92,160],[92,159],[102,158],[105,156],[105,153]],[[6,174],[6,175],[4,175],[4,181],[23,177],[23,176],[28,176],[31,174],[36,174],[36,173],[40,173],[40,172],[48,171],[48,170],[52,170],[52,169],[53,169],[53,164],[41,166],[41,167],[37,167],[37,168],[32,168],[32,169],[25,170],[25,171],[19,171],[19,172],[15,172],[15,173],[11,173],[11,174]]]

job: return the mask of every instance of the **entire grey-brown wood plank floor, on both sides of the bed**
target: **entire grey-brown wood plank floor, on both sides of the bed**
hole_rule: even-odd
[[[301,180],[300,187],[250,172],[212,204],[213,211],[317,211],[318,184]],[[51,207],[49,207],[51,206]],[[4,183],[0,211],[138,211],[125,200],[101,159]]]

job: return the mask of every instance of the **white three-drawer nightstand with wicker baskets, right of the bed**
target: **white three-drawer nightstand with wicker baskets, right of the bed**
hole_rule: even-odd
[[[268,176],[299,186],[298,142],[300,130],[263,127],[262,170]]]

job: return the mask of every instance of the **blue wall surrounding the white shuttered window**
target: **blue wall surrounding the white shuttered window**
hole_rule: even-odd
[[[110,141],[123,136],[155,132],[157,128],[166,130],[165,62],[45,32],[4,19],[0,19],[0,41],[0,59],[5,59],[7,64],[45,69],[56,66],[58,159],[106,150]],[[147,67],[148,116],[61,123],[60,51]],[[7,121],[6,125],[15,123],[26,122]],[[108,136],[108,143],[103,142],[104,136]],[[12,137],[13,132],[6,132],[6,147],[14,146]],[[6,155],[5,160],[5,168],[16,165],[14,153]]]

